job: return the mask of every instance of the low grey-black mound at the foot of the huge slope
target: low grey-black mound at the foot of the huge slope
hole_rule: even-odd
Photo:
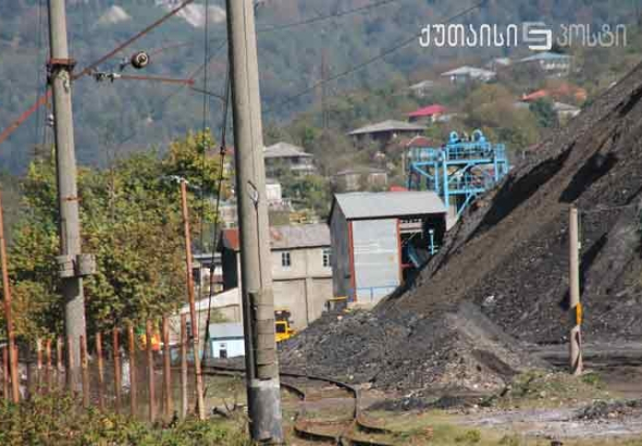
[[[469,302],[440,318],[409,312],[326,314],[283,347],[287,369],[408,388],[495,392],[534,361]]]

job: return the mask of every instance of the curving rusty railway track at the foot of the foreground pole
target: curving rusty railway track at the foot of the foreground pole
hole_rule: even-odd
[[[203,374],[243,375],[243,369],[220,366],[203,367]],[[341,446],[395,446],[391,439],[395,433],[379,425],[374,420],[361,413],[359,389],[350,384],[328,376],[316,376],[304,373],[281,372],[281,386],[296,396],[301,402],[296,413],[294,433],[297,437],[309,441]],[[343,394],[343,395],[342,395]],[[351,399],[346,413],[332,419],[317,419],[308,412],[308,404],[323,400],[345,398]],[[384,438],[376,438],[384,436]]]

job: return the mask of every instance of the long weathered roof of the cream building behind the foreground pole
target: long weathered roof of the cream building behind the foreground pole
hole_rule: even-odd
[[[227,249],[240,249],[238,228],[224,230],[221,245]],[[330,246],[330,228],[326,224],[299,224],[270,227],[271,249],[297,249]]]

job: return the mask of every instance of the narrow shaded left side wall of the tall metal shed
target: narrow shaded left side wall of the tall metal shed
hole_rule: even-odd
[[[348,296],[350,292],[350,246],[349,230],[341,208],[337,206],[330,221],[332,246],[332,282],[335,297]]]

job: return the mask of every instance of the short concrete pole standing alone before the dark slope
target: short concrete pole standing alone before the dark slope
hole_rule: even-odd
[[[569,265],[570,265],[570,319],[569,336],[570,372],[573,375],[582,373],[582,303],[580,302],[580,244],[578,208],[570,207],[569,218]]]

